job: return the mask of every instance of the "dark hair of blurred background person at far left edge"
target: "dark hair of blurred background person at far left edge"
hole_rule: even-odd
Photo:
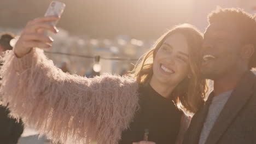
[[[11,50],[13,47],[10,45],[10,40],[14,39],[14,34],[4,32],[1,35],[0,38],[0,45],[3,47],[3,51]]]

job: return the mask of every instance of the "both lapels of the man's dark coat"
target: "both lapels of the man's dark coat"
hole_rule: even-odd
[[[225,130],[229,127],[232,120],[237,116],[238,112],[251,98],[256,84],[256,76],[252,71],[247,71],[238,82],[237,87],[231,93],[230,98],[220,112],[219,117],[216,119],[214,126],[208,136],[206,143],[215,144],[222,136]],[[205,118],[207,116],[208,108],[211,104],[211,98],[213,98],[213,92],[209,95],[205,105],[197,111],[191,121],[188,133],[186,134],[184,143],[197,144],[199,143],[199,137]]]

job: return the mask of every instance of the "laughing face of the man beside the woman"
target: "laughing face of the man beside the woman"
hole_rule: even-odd
[[[236,70],[241,35],[231,22],[214,22],[206,29],[202,45],[202,75],[216,80]]]

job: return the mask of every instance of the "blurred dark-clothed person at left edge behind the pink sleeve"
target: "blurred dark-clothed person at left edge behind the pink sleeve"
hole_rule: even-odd
[[[10,40],[14,39],[14,35],[11,33],[2,33],[0,36],[0,52],[3,53],[6,50],[11,50]],[[0,63],[2,65],[2,63]],[[0,67],[1,68],[1,67]],[[13,87],[14,89],[15,87]],[[10,91],[13,91],[10,89]],[[0,143],[15,144],[18,143],[19,138],[24,130],[24,125],[21,119],[19,122],[17,119],[9,117],[9,109],[7,106],[1,105],[0,96]]]

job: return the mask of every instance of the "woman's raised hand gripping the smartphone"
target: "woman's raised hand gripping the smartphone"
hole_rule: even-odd
[[[15,55],[18,57],[25,56],[30,52],[32,47],[50,48],[51,43],[53,43],[53,39],[48,35],[45,35],[44,31],[48,30],[53,33],[57,33],[57,28],[53,26],[51,22],[59,19],[60,18],[56,16],[47,16],[39,17],[27,22],[24,31],[21,33],[20,38],[15,44]]]

